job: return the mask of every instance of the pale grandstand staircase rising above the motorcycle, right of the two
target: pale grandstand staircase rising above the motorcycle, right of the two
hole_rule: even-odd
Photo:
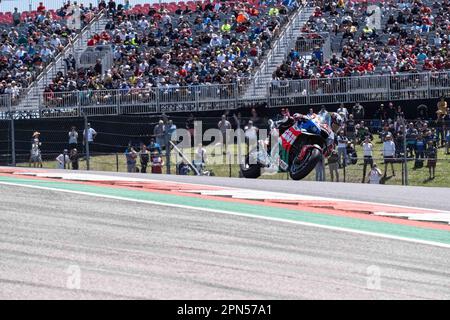
[[[303,25],[308,21],[313,11],[314,8],[305,7],[299,9],[291,18],[252,78],[250,86],[244,93],[244,99],[266,97],[267,84],[272,80],[273,72],[283,63],[289,51],[294,48]]]

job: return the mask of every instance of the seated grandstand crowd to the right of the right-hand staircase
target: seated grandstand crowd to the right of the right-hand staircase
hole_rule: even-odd
[[[324,57],[314,48],[310,58],[292,50],[275,71],[278,79],[349,77],[450,69],[450,2],[317,0],[303,37],[329,32],[338,54]],[[379,16],[379,28],[376,25]]]

